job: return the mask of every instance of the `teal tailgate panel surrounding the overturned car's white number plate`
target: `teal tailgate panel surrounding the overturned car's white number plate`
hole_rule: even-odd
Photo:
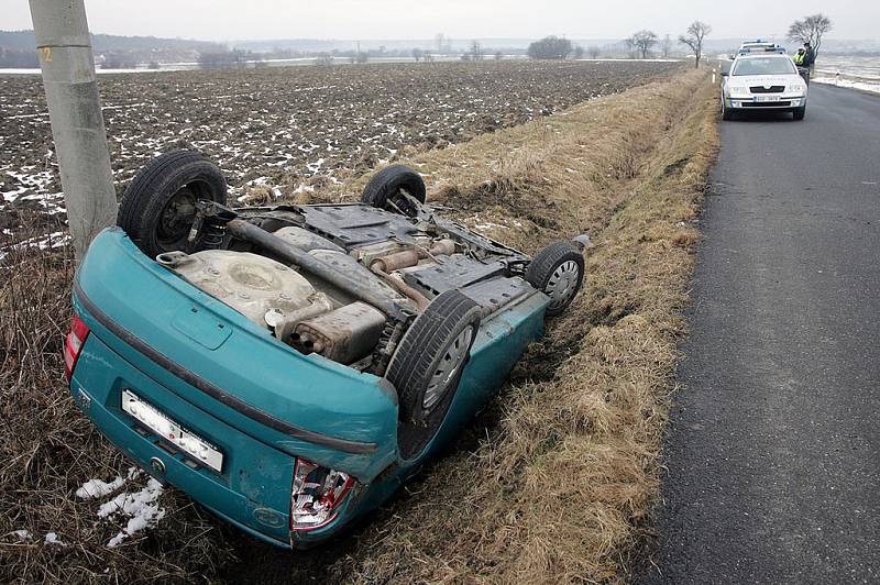
[[[223,453],[220,473],[188,456],[121,409],[123,389],[138,394],[187,430],[209,438]],[[185,492],[223,520],[282,548],[308,548],[333,537],[360,514],[370,486],[359,485],[328,525],[314,531],[289,530],[290,487],[296,457],[271,448],[191,404],[89,335],[70,394],[96,428],[153,477]]]

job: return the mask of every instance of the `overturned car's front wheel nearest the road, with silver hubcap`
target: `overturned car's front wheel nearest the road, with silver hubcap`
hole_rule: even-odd
[[[584,255],[574,244],[557,241],[538,252],[526,269],[526,282],[550,297],[547,316],[564,311],[584,282]]]

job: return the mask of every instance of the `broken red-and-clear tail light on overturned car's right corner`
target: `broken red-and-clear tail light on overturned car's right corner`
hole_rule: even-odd
[[[290,494],[290,530],[315,530],[333,521],[353,486],[354,478],[345,473],[296,460]]]

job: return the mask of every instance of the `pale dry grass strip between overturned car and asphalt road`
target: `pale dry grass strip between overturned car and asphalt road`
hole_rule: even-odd
[[[588,283],[464,449],[409,487],[417,497],[384,510],[336,575],[625,578],[658,493],[714,112],[710,85],[692,73],[413,161],[460,219],[507,225],[494,229],[506,242],[535,251],[591,232]]]

